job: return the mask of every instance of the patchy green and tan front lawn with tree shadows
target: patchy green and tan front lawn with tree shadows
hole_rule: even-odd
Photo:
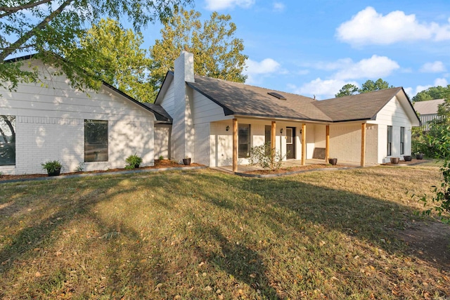
[[[435,166],[2,184],[2,299],[445,299],[398,233]],[[431,222],[431,220],[430,220]]]

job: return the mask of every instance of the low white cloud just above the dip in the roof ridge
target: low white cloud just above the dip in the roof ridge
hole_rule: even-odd
[[[293,84],[288,85],[293,93],[297,93],[303,96],[316,96],[317,100],[335,98],[335,94],[338,93],[342,86],[345,84],[354,84],[359,86],[355,81],[344,81],[338,79],[321,79],[317,78],[313,81],[309,81],[302,86],[295,86]]]

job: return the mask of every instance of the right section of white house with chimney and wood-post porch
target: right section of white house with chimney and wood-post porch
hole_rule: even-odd
[[[235,171],[248,163],[250,148],[264,142],[302,163],[321,156],[380,164],[411,155],[411,127],[420,125],[402,88],[318,101],[196,76],[193,54],[185,51],[155,104],[173,118],[173,159],[187,156]]]

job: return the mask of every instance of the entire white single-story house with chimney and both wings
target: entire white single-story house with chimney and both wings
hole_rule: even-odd
[[[52,73],[31,56],[24,67]],[[63,171],[143,165],[160,156],[210,167],[248,164],[250,148],[271,143],[285,159],[337,157],[380,164],[411,155],[411,127],[420,121],[401,87],[342,98],[313,98],[194,74],[182,51],[154,104],[139,103],[103,83],[86,95],[64,76],[44,84],[0,90],[0,172],[45,173],[58,159]]]

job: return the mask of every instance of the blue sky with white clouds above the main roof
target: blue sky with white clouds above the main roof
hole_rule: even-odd
[[[193,9],[231,15],[249,57],[246,84],[318,99],[368,79],[410,97],[450,84],[449,0],[200,0]],[[159,30],[143,30],[144,46]]]

